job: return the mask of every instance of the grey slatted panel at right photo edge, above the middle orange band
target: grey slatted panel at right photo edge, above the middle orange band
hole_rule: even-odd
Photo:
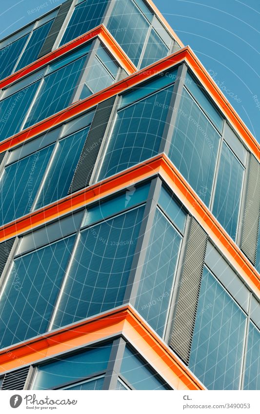
[[[251,154],[243,212],[241,250],[256,264],[260,213],[260,163]]]

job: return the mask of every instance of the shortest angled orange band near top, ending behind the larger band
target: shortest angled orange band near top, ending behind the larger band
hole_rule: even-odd
[[[126,70],[128,74],[132,74],[137,71],[136,66],[128,58],[126,53],[120,47],[118,42],[113,38],[113,36],[109,33],[107,28],[103,24],[100,24],[94,29],[89,30],[84,35],[81,35],[78,38],[71,40],[70,42],[64,44],[63,46],[60,46],[58,49],[54,50],[53,52],[50,52],[47,55],[44,55],[42,58],[35,60],[34,62],[20,69],[18,72],[15,72],[12,75],[8,76],[7,78],[0,80],[0,89],[10,85],[16,80],[19,80],[25,77],[26,75],[31,74],[37,69],[40,69],[41,67],[52,62],[54,59],[60,58],[65,53],[71,52],[76,47],[83,45],[84,43],[88,42],[90,39],[94,39],[96,37],[100,37],[100,39],[102,40],[104,45],[107,47],[107,49],[110,52],[112,52],[112,55],[118,60],[120,65],[123,67],[123,69]]]

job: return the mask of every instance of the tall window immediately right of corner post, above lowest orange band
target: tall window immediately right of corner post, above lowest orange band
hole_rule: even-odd
[[[168,314],[180,243],[179,233],[157,210],[135,307],[161,337]]]

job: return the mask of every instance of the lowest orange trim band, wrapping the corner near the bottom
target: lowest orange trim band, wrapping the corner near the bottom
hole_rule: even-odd
[[[188,390],[205,389],[131,306],[122,306],[120,309],[0,351],[0,372],[8,372],[21,365],[33,364],[39,359],[120,334],[131,337],[133,346],[137,344],[141,354],[144,357],[149,356],[149,362],[151,361],[173,387]]]

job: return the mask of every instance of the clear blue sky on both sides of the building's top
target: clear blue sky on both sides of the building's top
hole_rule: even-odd
[[[0,38],[63,1],[2,1]],[[260,142],[260,0],[154,2]]]

